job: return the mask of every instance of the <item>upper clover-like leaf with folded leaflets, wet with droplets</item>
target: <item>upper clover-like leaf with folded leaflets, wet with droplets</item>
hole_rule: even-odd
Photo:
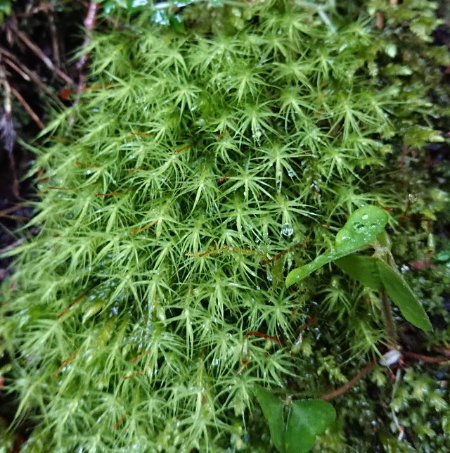
[[[286,286],[304,279],[316,269],[335,262],[352,279],[368,288],[385,288],[406,320],[423,331],[432,330],[430,319],[414,295],[408,283],[394,266],[394,260],[386,247],[379,245],[377,236],[382,234],[388,221],[387,213],[376,206],[364,206],[350,215],[335,238],[335,248],[322,253],[314,261],[294,269],[286,278]],[[377,251],[371,257],[355,255],[368,245]]]

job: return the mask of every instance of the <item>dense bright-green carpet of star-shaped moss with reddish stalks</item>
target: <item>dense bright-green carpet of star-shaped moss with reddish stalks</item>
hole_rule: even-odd
[[[420,176],[409,152],[402,165],[397,158],[402,146],[442,138],[434,107],[424,108],[438,52],[424,83],[420,65],[401,61],[393,30],[403,21],[417,56],[427,43],[410,27],[432,6],[224,3],[186,8],[184,32],[154,25],[150,9],[120,11],[124,25],[88,49],[99,88],[55,114],[46,133],[64,142],[35,150],[41,197],[30,226],[39,233],[9,252],[15,275],[1,321],[16,420],[35,422],[24,452],[290,452],[290,434],[269,447],[273,426],[257,394],[290,433],[283,411],[304,420],[325,407],[304,400],[345,385],[388,349],[378,291],[345,264],[323,263],[292,291],[285,276],[333,250],[365,206],[389,213],[397,262],[426,248],[409,215],[427,189],[400,222]],[[425,287],[403,278],[438,310],[435,276]],[[409,324],[393,316],[401,347]],[[418,322],[428,327],[421,312]],[[373,366],[333,404],[334,422],[330,409],[326,426],[306,425],[308,442],[323,452],[409,451],[398,421],[407,440],[446,452],[415,428],[447,410],[446,390],[423,372],[408,371],[391,400],[390,369]],[[436,404],[411,414],[398,395],[414,376]],[[448,432],[448,422],[430,423]]]

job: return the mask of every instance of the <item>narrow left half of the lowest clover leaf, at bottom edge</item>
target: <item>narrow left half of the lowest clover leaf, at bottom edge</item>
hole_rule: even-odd
[[[256,397],[264,418],[269,423],[272,442],[278,452],[287,453],[284,447],[283,401],[262,387],[256,388]]]

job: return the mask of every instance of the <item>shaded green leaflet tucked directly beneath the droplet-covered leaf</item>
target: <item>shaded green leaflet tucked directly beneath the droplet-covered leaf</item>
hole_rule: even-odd
[[[380,279],[377,261],[379,258],[352,254],[335,260],[335,264],[364,286],[378,289],[383,286],[383,282]]]

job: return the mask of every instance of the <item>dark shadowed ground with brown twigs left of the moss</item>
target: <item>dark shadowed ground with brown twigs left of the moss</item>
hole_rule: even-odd
[[[6,102],[0,106],[0,251],[20,243],[14,231],[32,216],[26,201],[32,200],[34,189],[32,179],[25,175],[33,156],[20,141],[30,143],[37,136],[46,124],[50,102],[58,101],[61,89],[74,88],[68,80],[79,79],[68,60],[82,44],[86,14],[82,2],[76,1],[53,2],[52,6],[18,0],[14,8],[11,18],[0,25],[0,70],[5,72],[12,104],[11,115]],[[45,58],[51,60],[53,69]],[[5,98],[1,96],[2,101]],[[10,264],[11,260],[0,259],[0,281],[11,272]]]

